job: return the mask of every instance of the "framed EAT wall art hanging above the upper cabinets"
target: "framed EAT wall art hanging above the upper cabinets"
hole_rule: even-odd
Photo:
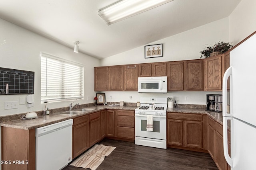
[[[163,44],[145,46],[145,59],[154,57],[163,57]]]

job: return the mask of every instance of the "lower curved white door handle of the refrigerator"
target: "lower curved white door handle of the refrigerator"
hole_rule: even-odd
[[[233,168],[233,160],[228,154],[228,120],[232,121],[232,119],[233,117],[223,116],[223,150],[226,161]]]

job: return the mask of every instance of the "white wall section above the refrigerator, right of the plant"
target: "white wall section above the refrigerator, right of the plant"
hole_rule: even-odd
[[[236,45],[256,31],[256,0],[242,0],[229,16],[229,37]]]

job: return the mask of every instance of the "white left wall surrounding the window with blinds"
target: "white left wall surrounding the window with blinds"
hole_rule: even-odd
[[[74,53],[73,49],[32,33],[22,27],[0,19],[0,67],[28,70],[35,72],[34,107],[19,105],[18,109],[4,109],[4,102],[19,101],[27,95],[0,95],[0,116],[28,111],[40,111],[44,104],[40,102],[40,52],[48,53],[63,59],[84,64],[84,96],[85,100],[49,103],[49,109],[67,107],[71,102],[80,104],[92,103],[94,92],[94,66],[100,61],[82,53]],[[90,100],[87,100],[90,96]]]

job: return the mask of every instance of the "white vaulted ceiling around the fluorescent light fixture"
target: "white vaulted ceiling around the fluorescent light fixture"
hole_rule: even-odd
[[[241,0],[174,0],[107,25],[98,10],[118,0],[0,0],[0,18],[103,59],[226,18]]]

